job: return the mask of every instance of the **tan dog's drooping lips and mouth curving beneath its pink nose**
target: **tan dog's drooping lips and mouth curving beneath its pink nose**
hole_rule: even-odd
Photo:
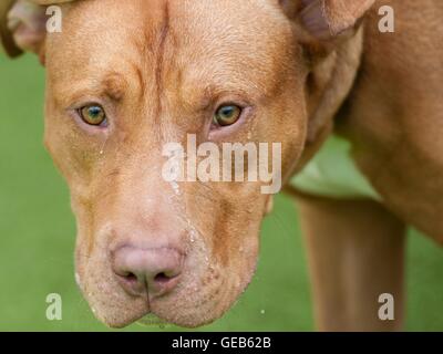
[[[233,267],[208,266],[194,259],[171,292],[135,296],[127,293],[110,272],[103,277],[103,268],[99,273],[102,264],[104,262],[87,269],[80,287],[97,320],[115,329],[134,323],[159,329],[169,325],[194,329],[209,324],[230,309],[256,269],[255,262],[244,263],[239,272]]]

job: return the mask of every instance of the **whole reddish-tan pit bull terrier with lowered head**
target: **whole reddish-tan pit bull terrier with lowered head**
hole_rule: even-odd
[[[442,1],[35,2],[2,2],[2,43],[47,67],[44,142],[71,189],[78,282],[101,321],[200,326],[251,280],[271,197],[260,183],[177,192],[162,146],[192,133],[282,144],[319,330],[401,329],[405,225],[443,242]],[[52,3],[61,33],[44,30]],[[394,33],[379,31],[381,6]],[[348,144],[337,150],[360,187],[292,179],[333,175],[333,155],[309,164],[331,139]],[[378,316],[382,293],[394,321]]]

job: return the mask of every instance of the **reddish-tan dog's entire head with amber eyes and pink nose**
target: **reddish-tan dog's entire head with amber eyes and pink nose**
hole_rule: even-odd
[[[311,117],[340,64],[334,37],[373,1],[337,2],[83,0],[61,6],[53,33],[44,8],[11,11],[16,43],[48,70],[45,145],[71,189],[78,282],[100,320],[152,312],[197,326],[245,290],[271,206],[265,183],[168,180],[165,146],[187,152],[190,134],[219,152],[280,143],[271,167],[285,181],[320,134]]]

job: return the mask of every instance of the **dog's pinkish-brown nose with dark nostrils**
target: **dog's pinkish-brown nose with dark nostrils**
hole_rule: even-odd
[[[132,295],[161,296],[178,283],[183,253],[174,248],[123,246],[113,252],[113,270]]]

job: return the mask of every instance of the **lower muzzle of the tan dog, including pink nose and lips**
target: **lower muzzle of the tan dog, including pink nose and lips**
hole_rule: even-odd
[[[155,218],[146,214],[141,223],[103,221],[93,232],[79,227],[80,288],[95,316],[111,327],[134,322],[189,329],[209,324],[235,304],[253,279],[258,222],[241,232],[212,233],[209,227],[189,221],[193,218],[164,221],[173,212],[166,207],[157,205]]]

